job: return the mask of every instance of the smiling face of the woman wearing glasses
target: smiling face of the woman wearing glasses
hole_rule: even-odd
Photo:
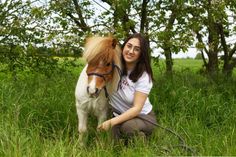
[[[123,58],[126,64],[136,64],[141,54],[138,38],[131,38],[123,48]]]

